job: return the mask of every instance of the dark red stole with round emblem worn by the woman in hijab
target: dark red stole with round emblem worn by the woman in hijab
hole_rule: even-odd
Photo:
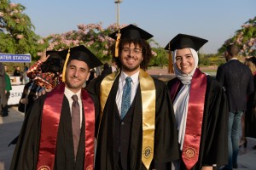
[[[175,82],[171,89],[172,101],[174,101],[179,83],[180,81]],[[183,141],[182,158],[187,169],[194,167],[198,161],[206,90],[207,76],[196,69],[191,80],[187,124]]]

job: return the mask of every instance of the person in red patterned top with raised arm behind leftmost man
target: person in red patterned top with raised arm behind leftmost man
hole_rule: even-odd
[[[18,105],[18,111],[29,111],[38,96],[49,92],[61,82],[61,72],[64,60],[57,51],[44,51],[40,59],[26,71],[26,77],[30,79],[23,88]],[[16,144],[19,135],[10,144]]]

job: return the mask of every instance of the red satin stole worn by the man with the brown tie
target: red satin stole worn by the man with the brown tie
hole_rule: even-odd
[[[54,168],[56,140],[64,90],[65,84],[61,83],[49,92],[44,101],[37,164],[38,170],[51,170]],[[94,168],[95,107],[93,100],[85,90],[82,90],[81,95],[85,117],[84,170],[88,170]]]

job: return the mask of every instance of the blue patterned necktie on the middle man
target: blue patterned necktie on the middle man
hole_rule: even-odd
[[[125,78],[125,86],[123,89],[122,105],[121,105],[121,120],[125,117],[131,105],[131,77]]]

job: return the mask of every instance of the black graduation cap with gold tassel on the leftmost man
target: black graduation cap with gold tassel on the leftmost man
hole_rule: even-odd
[[[91,53],[88,48],[85,48],[84,45],[64,49],[58,52],[58,54],[60,54],[61,57],[65,59],[65,64],[62,71],[62,82],[65,82],[65,72],[68,60],[77,59],[80,61],[84,61],[90,69],[103,65],[102,61],[100,61],[95,54]]]

